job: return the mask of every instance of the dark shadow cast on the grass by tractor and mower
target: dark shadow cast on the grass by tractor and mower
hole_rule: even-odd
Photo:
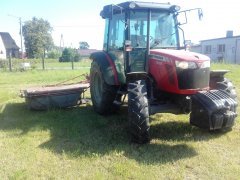
[[[70,157],[103,156],[111,152],[122,153],[140,163],[167,163],[197,155],[188,141],[208,140],[218,135],[203,133],[183,122],[160,123],[151,127],[154,140],[147,145],[129,142],[127,111],[103,117],[91,106],[65,110],[29,111],[25,103],[7,104],[0,114],[0,130],[19,130],[16,136],[33,131],[48,130],[50,140],[40,145],[55,153]],[[173,143],[162,142],[168,140]]]

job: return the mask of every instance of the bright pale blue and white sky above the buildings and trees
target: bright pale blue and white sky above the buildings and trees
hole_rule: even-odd
[[[0,32],[9,32],[20,47],[19,21],[43,18],[53,27],[52,36],[56,45],[63,34],[64,44],[78,47],[79,41],[87,41],[90,48],[102,48],[104,20],[99,13],[104,5],[117,4],[124,0],[1,0]],[[157,1],[157,0],[145,0]],[[181,9],[200,7],[204,18],[198,21],[191,16],[183,26],[186,39],[197,43],[208,38],[224,37],[227,30],[240,35],[240,10],[237,0],[158,0],[181,6]],[[9,16],[10,15],[10,16]],[[15,16],[15,17],[13,17]]]

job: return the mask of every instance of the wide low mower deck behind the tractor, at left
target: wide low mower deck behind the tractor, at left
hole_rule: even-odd
[[[81,104],[89,83],[32,87],[21,91],[29,109],[68,108]]]

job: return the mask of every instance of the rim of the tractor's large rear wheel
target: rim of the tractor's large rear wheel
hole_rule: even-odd
[[[96,103],[100,103],[102,100],[102,79],[98,73],[95,73],[93,78],[93,93],[96,100]]]

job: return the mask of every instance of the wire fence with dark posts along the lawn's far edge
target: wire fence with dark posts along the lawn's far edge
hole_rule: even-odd
[[[57,59],[6,59],[0,60],[0,71],[24,70],[74,70],[89,69],[91,60],[82,59],[79,62],[59,62]]]

